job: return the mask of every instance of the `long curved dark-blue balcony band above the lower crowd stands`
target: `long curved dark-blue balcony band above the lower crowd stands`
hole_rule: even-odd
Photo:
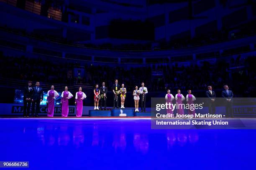
[[[99,63],[150,64],[191,62],[254,51],[256,45],[256,35],[251,35],[210,45],[174,50],[122,51],[99,50],[67,45],[31,35],[24,35],[20,30],[8,30],[3,27],[0,29],[0,35],[2,51],[10,48],[21,50],[27,54],[35,53],[38,55]]]

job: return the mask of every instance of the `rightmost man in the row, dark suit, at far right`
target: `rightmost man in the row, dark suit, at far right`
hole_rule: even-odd
[[[226,117],[234,117],[232,103],[233,103],[233,92],[228,90],[228,85],[224,85],[225,90],[221,92],[221,96],[224,97],[224,103],[226,107]]]

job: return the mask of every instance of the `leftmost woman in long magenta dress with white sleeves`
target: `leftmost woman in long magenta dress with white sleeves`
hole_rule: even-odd
[[[47,116],[53,117],[54,115],[54,102],[59,97],[58,92],[54,90],[54,85],[51,86],[51,90],[47,92]]]

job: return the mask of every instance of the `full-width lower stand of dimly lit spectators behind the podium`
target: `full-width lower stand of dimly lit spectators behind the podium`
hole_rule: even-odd
[[[122,65],[92,65],[66,61],[43,60],[41,58],[13,57],[0,55],[0,77],[17,80],[40,80],[52,84],[76,85],[77,83],[101,85],[104,81],[111,87],[117,78],[119,84],[125,84],[128,90],[135,85],[145,86],[150,91],[207,90],[208,85],[214,89],[222,89],[228,84],[237,96],[255,96],[256,69],[253,63],[255,57],[245,61],[238,55],[238,61],[229,63],[219,61],[211,64],[178,67],[177,65],[162,64],[145,67],[126,68]],[[84,68],[84,77],[79,77],[74,68],[79,65]],[[236,69],[232,66],[236,65]],[[158,74],[154,74],[157,70]]]

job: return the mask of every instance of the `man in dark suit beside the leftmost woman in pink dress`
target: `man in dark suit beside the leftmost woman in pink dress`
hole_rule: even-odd
[[[34,114],[36,113],[36,117],[38,116],[39,113],[39,106],[40,102],[43,101],[44,99],[44,91],[42,87],[40,86],[40,82],[36,82],[36,87],[33,87],[34,93],[33,93],[33,100],[32,100],[32,117],[34,117]],[[36,106],[36,112],[35,112],[35,106]]]

